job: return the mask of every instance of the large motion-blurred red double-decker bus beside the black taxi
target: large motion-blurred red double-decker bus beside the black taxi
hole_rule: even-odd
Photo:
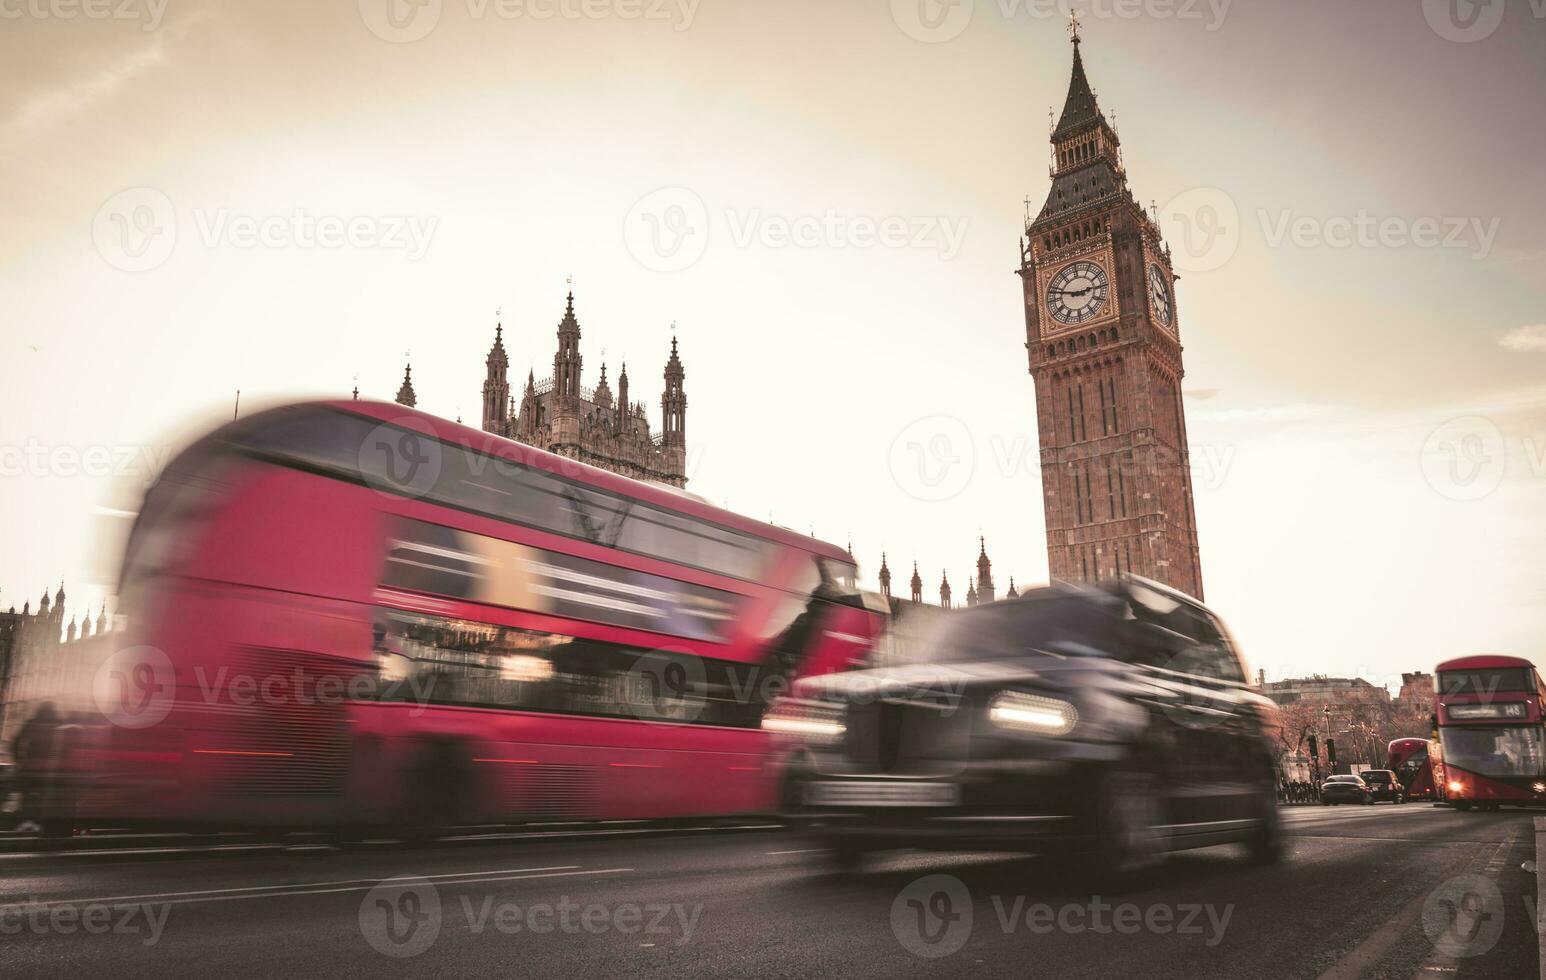
[[[768,812],[764,705],[881,626],[843,549],[369,402],[181,453],[121,607],[56,832]]]

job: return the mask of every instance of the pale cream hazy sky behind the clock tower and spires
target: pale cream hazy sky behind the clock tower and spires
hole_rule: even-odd
[[[1546,663],[1546,0],[1076,6],[1248,658]],[[1036,0],[0,0],[0,604],[99,601],[93,509],[238,388],[411,351],[476,424],[495,309],[543,377],[570,275],[657,427],[677,325],[690,488],[898,590],[979,533],[1045,581],[1013,269],[1068,66]]]

